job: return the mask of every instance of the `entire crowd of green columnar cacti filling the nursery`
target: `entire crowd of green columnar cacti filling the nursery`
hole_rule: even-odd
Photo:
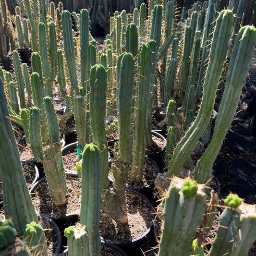
[[[64,10],[61,2],[55,5],[43,0],[18,0],[12,15],[1,0],[0,58],[12,52],[15,71],[14,80],[14,75],[0,68],[4,213],[12,217],[17,232],[24,232],[33,246],[43,233],[37,226],[8,118],[10,113],[14,122],[23,125],[34,157],[43,163],[53,203],[65,203],[60,125],[52,100],[57,81],[57,95],[67,104],[61,122],[74,114],[77,153],[82,158],[77,163],[82,183],[81,219],[80,224],[65,231],[69,254],[100,255],[101,195],[111,218],[121,227],[127,223],[126,183],[128,179],[141,182],[146,146],[153,142],[152,115],[154,110],[163,110],[168,127],[166,179],[172,181],[159,214],[163,230],[158,255],[190,255],[192,250],[203,255],[201,244],[195,241],[196,229],[202,222],[206,230],[209,228],[211,218],[206,216],[212,209],[207,207],[208,190],[196,182],[207,183],[212,176],[213,162],[234,117],[254,52],[256,29],[251,25],[239,29],[244,0],[230,0],[223,11],[219,10],[219,0],[197,1],[189,10],[183,6],[181,15],[176,0],[149,0],[148,8],[138,2],[134,1],[133,13],[116,11],[110,17],[110,34],[100,50],[90,24],[107,23],[108,1],[93,1],[90,9],[81,8],[78,14]],[[31,73],[26,64],[21,64],[18,51],[22,48],[32,48]],[[225,89],[208,143],[222,75],[226,78]],[[116,120],[110,131],[118,133],[111,161],[113,184],[108,178],[107,116]],[[200,143],[207,149],[194,166],[190,155]],[[174,177],[186,166],[195,180]],[[14,200],[17,197],[19,200]],[[225,199],[227,207],[209,255],[218,251],[222,255],[241,255],[252,244],[255,214],[242,201],[233,194]],[[22,210],[17,213],[17,208]],[[2,239],[5,245],[0,249],[16,238],[8,239]],[[44,245],[40,246],[33,254],[37,250],[47,253]]]

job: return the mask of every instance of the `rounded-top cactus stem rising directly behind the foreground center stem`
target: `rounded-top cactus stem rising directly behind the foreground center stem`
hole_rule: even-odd
[[[90,117],[92,139],[100,150],[102,166],[102,187],[108,186],[109,148],[105,132],[107,98],[107,72],[102,65],[96,64],[90,71]]]

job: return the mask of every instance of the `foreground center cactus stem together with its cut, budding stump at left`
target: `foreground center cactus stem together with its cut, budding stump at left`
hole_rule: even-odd
[[[82,158],[80,223],[65,229],[68,253],[100,256],[101,161],[98,147],[85,145]]]

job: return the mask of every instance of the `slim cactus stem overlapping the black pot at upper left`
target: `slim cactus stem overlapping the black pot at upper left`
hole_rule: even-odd
[[[22,76],[22,71],[21,71],[20,57],[16,50],[12,51],[12,57],[13,57],[13,65],[14,65],[14,71],[15,71],[15,76],[16,76],[16,82],[17,82],[17,86],[18,86],[20,107],[22,109],[24,109],[26,107],[24,81],[23,81],[23,76]]]

